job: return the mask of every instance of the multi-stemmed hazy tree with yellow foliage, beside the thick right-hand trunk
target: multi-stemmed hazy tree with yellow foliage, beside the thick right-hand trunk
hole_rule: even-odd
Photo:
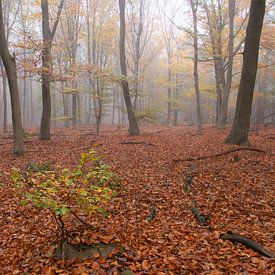
[[[226,3],[227,2],[227,3]],[[243,1],[203,0],[206,14],[205,50],[213,58],[216,79],[216,125],[227,122],[229,94],[232,85],[233,59],[242,48],[242,29],[247,21],[246,3]],[[240,15],[240,18],[237,15]],[[239,19],[239,20],[238,20]],[[239,24],[236,23],[239,21]],[[210,38],[208,46],[207,41]],[[237,42],[237,43],[235,43]],[[235,47],[234,47],[234,44]],[[210,59],[211,60],[211,59]]]

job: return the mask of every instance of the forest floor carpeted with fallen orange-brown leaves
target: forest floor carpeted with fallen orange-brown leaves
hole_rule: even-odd
[[[265,152],[193,161],[185,159],[237,148],[224,144],[228,129],[206,127],[199,136],[192,126],[154,126],[141,133],[134,137],[126,128],[103,127],[97,136],[88,127],[54,129],[47,142],[28,135],[26,154],[19,158],[12,156],[12,140],[1,135],[0,274],[274,274],[274,259],[223,241],[220,234],[236,232],[275,252],[275,128],[251,132],[251,144]],[[125,141],[141,143],[121,144]],[[124,250],[64,265],[52,259],[58,239],[52,216],[19,206],[8,172],[25,169],[29,161],[72,167],[93,144],[120,176],[121,187],[107,205],[108,218],[90,218],[93,232],[77,220],[70,229],[81,232],[79,240],[86,234]],[[190,193],[184,191],[186,175],[193,178]],[[198,224],[192,199],[210,215],[209,226]],[[156,215],[148,221],[152,207]]]

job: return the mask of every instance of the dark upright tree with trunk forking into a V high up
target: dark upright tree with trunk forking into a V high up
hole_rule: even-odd
[[[50,29],[49,3],[48,0],[41,0],[42,10],[42,32],[43,32],[43,50],[42,50],[42,117],[40,125],[40,139],[51,139],[51,90],[50,90],[50,72],[51,72],[51,48],[54,34],[60,19],[64,0],[60,1],[56,20]]]

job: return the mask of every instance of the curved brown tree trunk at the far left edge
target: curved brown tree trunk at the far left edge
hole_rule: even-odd
[[[23,127],[17,83],[16,62],[15,56],[12,56],[9,52],[5,36],[2,0],[0,0],[0,55],[5,67],[10,88],[13,126],[13,152],[16,156],[20,156],[24,154],[25,148],[23,143]]]

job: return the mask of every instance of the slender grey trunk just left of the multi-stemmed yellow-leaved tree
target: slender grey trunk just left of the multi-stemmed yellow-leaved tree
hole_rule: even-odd
[[[193,28],[194,28],[194,88],[196,92],[196,111],[197,111],[197,133],[202,134],[202,117],[201,117],[201,100],[200,100],[200,86],[199,86],[199,70],[198,70],[198,0],[190,0],[193,15]]]

